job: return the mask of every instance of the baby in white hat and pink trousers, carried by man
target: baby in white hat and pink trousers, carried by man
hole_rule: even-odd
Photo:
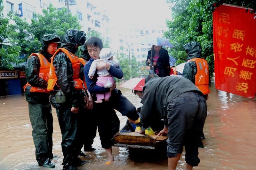
[[[92,65],[90,67],[88,76],[92,79],[95,71],[97,70],[97,63],[98,61],[104,61],[109,63],[112,66],[119,67],[119,61],[113,57],[113,53],[111,48],[102,48],[100,50],[100,59],[94,60],[92,62]],[[97,71],[98,78],[96,81],[96,85],[100,87],[110,88],[114,84],[114,78],[112,75],[108,72],[106,69],[98,70]],[[102,103],[104,99],[105,101],[108,101],[111,96],[111,92],[106,93],[96,93],[97,101],[95,103]]]

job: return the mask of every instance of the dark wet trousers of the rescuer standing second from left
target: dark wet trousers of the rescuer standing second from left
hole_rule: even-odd
[[[61,148],[64,156],[62,165],[64,166],[67,164],[76,166],[77,156],[82,148],[81,113],[72,113],[70,109],[71,104],[63,104],[56,108],[62,135]]]

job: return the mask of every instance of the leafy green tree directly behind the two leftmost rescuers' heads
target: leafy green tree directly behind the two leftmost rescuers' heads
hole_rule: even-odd
[[[18,40],[17,44],[22,48],[21,54],[25,54],[27,57],[31,53],[38,52],[42,46],[40,40],[44,34],[53,33],[62,39],[68,29],[81,29],[77,16],[68,13],[67,8],[58,10],[52,4],[47,10],[43,9],[43,15],[34,13],[30,25],[26,19],[21,19],[16,15],[10,15],[9,19],[15,21],[15,25],[12,27],[19,34],[14,38]]]

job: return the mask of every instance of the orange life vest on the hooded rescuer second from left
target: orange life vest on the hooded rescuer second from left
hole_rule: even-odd
[[[79,62],[78,57],[76,55],[72,54],[71,52],[69,52],[65,48],[59,48],[53,54],[52,61],[53,61],[55,55],[58,54],[60,51],[65,53],[68,56],[69,60],[71,61],[72,68],[73,68],[72,79],[74,80],[74,87],[76,88],[76,90],[82,90],[83,89],[83,81],[79,78],[80,62]],[[56,76],[55,70],[56,70],[56,68],[53,67],[53,63],[51,62],[50,72],[49,72],[49,80],[48,80],[48,86],[47,86],[48,91],[52,91],[54,86],[57,85],[58,78]]]

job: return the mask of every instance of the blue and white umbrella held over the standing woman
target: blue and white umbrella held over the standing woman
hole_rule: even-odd
[[[148,44],[148,45],[155,45],[155,46],[165,46],[165,47],[174,47],[169,40],[157,37],[155,35],[148,35],[140,44]]]

